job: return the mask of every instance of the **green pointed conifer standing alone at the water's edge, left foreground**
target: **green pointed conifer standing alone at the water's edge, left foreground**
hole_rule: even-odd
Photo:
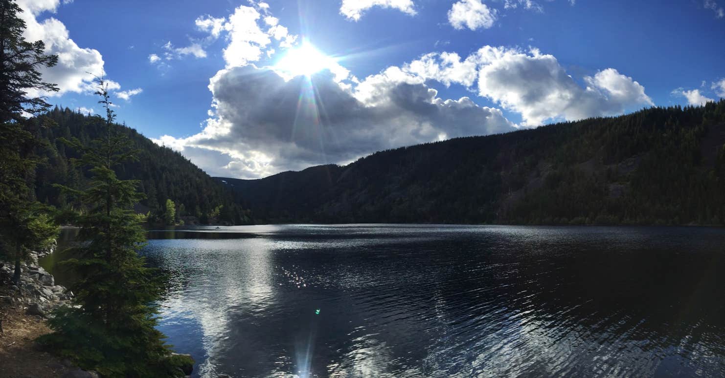
[[[55,332],[41,343],[106,377],[183,376],[181,366],[193,361],[172,356],[165,336],[154,328],[158,317],[151,303],[159,298],[162,276],[138,255],[146,242],[144,217],[132,209],[142,197],[138,181],[120,180],[114,170],[137,151],[112,127],[115,114],[107,85],[102,79],[97,83],[106,118],[96,120],[106,127],[104,137],[89,146],[76,138],[66,140],[83,151],[75,163],[90,167],[92,175],[86,190],[62,188],[83,204],[74,219],[81,227],[81,243],[73,251],[78,258],[64,263],[79,277],[71,287],[76,306],[57,311],[49,322]]]

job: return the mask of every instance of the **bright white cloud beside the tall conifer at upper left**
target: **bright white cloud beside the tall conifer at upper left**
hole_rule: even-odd
[[[81,48],[70,39],[70,33],[62,22],[54,17],[38,22],[43,13],[56,12],[60,0],[17,0],[17,5],[25,12],[20,18],[25,21],[23,37],[28,41],[41,40],[46,43],[46,53],[57,54],[58,64],[55,67],[41,68],[43,80],[56,83],[56,93],[30,93],[32,96],[60,96],[63,93],[81,93],[88,91],[94,76],[104,74],[104,62],[101,53],[95,49]],[[64,1],[67,4],[67,1]]]

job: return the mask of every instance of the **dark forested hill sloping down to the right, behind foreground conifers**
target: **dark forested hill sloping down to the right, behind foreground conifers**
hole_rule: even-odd
[[[80,157],[79,152],[58,138],[75,137],[86,145],[101,136],[103,119],[57,107],[43,117],[51,119],[54,122],[50,123],[55,125],[41,128],[40,137],[46,143],[37,153],[46,158],[47,163],[36,170],[36,196],[38,200],[59,208],[74,206],[72,199],[60,193],[53,184],[82,188],[88,182],[89,175],[85,169],[74,167],[70,162],[70,159]],[[44,122],[43,117],[38,118],[37,122]],[[151,211],[152,215],[162,217],[167,200],[170,199],[175,206],[173,213],[177,220],[196,217],[202,223],[209,220],[229,224],[251,222],[249,211],[241,207],[238,193],[212,180],[178,152],[158,146],[130,127],[116,127],[128,135],[139,150],[137,161],[125,162],[117,169],[117,175],[122,180],[141,180],[139,190],[147,198],[141,201],[138,210]]]

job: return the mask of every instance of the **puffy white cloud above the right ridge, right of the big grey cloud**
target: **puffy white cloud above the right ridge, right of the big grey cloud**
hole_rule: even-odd
[[[554,56],[537,49],[484,46],[465,59],[451,53],[426,54],[403,68],[426,80],[465,85],[521,114],[526,126],[621,114],[634,106],[653,105],[642,85],[613,68],[584,77],[582,86]]]

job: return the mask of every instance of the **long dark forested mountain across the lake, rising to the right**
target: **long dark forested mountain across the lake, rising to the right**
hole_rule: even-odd
[[[257,222],[724,224],[725,100],[218,178]]]

